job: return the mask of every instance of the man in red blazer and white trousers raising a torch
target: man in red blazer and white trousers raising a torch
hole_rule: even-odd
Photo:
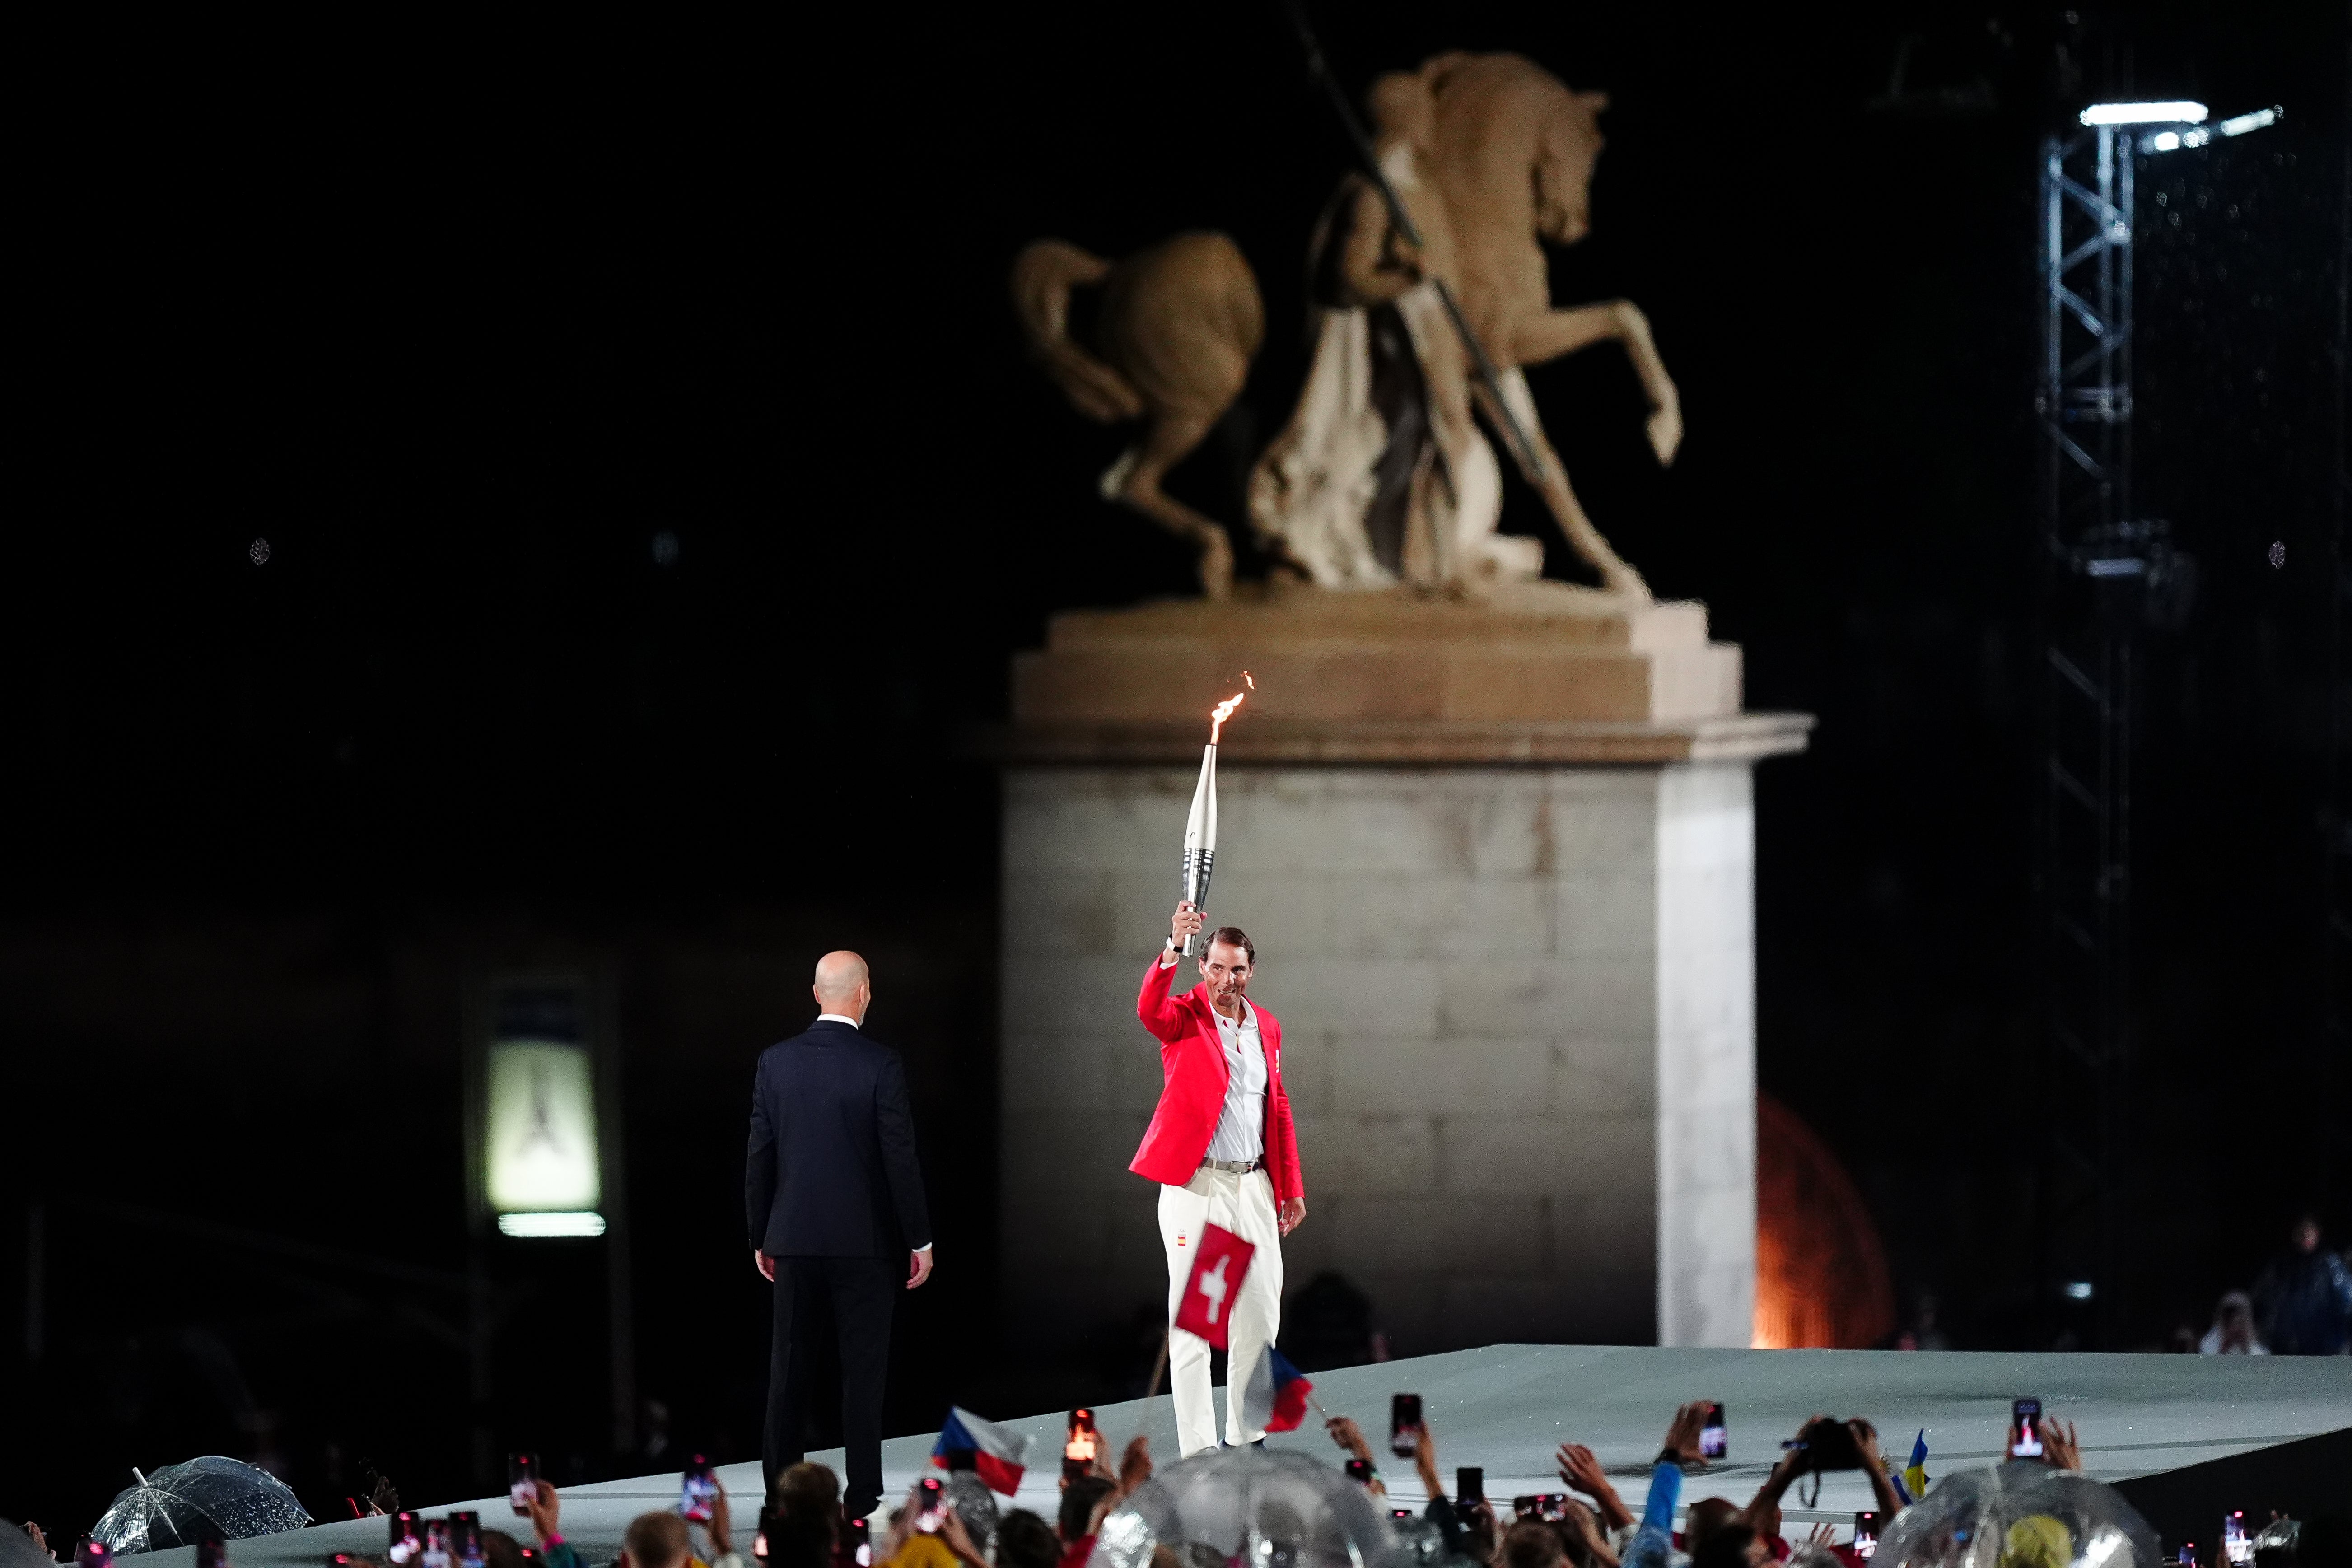
[[[1169,1255],[1169,1387],[1176,1394],[1176,1448],[1216,1448],[1209,1401],[1209,1342],[1176,1328],[1204,1225],[1256,1246],[1240,1295],[1228,1302],[1225,1441],[1265,1432],[1242,1418],[1242,1394],[1258,1356],[1282,1328],[1282,1237],[1308,1218],[1298,1178],[1291,1098],[1282,1093],[1282,1025],[1244,999],[1258,950],[1232,926],[1209,933],[1200,985],[1171,997],[1176,952],[1202,929],[1200,910],[1176,905],[1169,940],[1143,971],[1136,1018],[1160,1039],[1160,1107],[1129,1171],[1160,1182],[1160,1241]]]

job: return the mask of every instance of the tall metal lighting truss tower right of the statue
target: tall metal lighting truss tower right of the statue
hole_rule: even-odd
[[[2072,1298],[2086,1347],[2122,1331],[2131,1100],[2133,614],[2100,614],[2145,569],[2131,522],[2133,132],[2044,143],[2042,924],[2046,1086],[2016,1128],[2046,1159],[2044,1300]],[[2122,592],[2119,592],[2122,590]]]

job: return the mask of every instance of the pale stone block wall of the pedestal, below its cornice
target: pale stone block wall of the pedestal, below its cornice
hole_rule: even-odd
[[[1755,1293],[1745,762],[1221,766],[1209,919],[1258,947],[1308,1222],[1399,1354],[1496,1340],[1748,1345]],[[1009,769],[1009,1324],[1164,1298],[1160,1093],[1134,1020],[1176,903],[1190,769]],[[1178,985],[1197,971],[1188,961]]]

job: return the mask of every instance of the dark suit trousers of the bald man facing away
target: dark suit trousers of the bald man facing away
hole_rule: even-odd
[[[807,1458],[816,1394],[816,1335],[833,1319],[842,1352],[842,1507],[863,1519],[882,1500],[882,1387],[889,1378],[889,1314],[906,1279],[896,1258],[776,1258],[776,1328],[767,1354],[767,1490]]]

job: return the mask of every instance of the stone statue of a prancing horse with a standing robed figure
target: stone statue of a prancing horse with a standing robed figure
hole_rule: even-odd
[[[1501,470],[1472,407],[1470,355],[1437,296],[1451,284],[1498,371],[1501,400],[1531,447],[1529,482],[1604,588],[1649,588],[1585,517],[1519,374],[1616,339],[1649,397],[1661,463],[1682,444],[1672,378],[1630,301],[1555,310],[1543,242],[1590,230],[1602,94],[1569,92],[1517,54],[1439,54],[1369,94],[1374,153],[1421,233],[1416,249],[1385,197],[1350,174],[1315,228],[1315,360],[1298,409],[1258,458],[1251,524],[1277,562],[1324,588],[1468,588],[1534,578],[1543,548],[1496,534]],[[1091,346],[1068,331],[1077,287],[1101,287]],[[1265,308],[1240,247],[1188,233],[1117,263],[1037,240],[1014,263],[1030,353],[1070,404],[1101,423],[1143,421],[1103,475],[1103,494],[1200,550],[1202,592],[1232,590],[1225,531],[1162,489],[1167,473],[1240,397],[1265,336]]]

